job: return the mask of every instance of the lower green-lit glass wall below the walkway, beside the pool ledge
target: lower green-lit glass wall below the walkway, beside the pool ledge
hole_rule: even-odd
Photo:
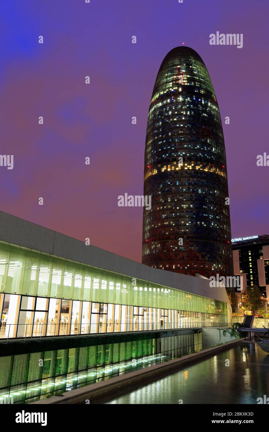
[[[202,333],[103,335],[71,345],[0,357],[0,403],[34,402],[200,351]]]

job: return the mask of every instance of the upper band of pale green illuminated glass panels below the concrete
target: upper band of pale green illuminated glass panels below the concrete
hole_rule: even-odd
[[[73,263],[4,242],[0,242],[0,259],[1,292],[9,294],[227,314],[225,302],[139,279],[133,286],[133,276]]]

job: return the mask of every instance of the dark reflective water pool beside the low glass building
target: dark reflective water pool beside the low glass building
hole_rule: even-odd
[[[229,360],[229,362],[227,361]],[[229,365],[228,365],[229,364]],[[242,343],[129,393],[98,403],[244,404],[269,397],[269,354]]]

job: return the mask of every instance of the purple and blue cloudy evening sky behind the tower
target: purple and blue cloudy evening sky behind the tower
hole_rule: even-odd
[[[141,261],[142,209],[117,196],[143,193],[152,89],[184,42],[218,98],[232,237],[269,234],[269,167],[256,166],[269,154],[268,16],[266,0],[1,0],[0,154],[14,168],[0,167],[0,210]],[[243,33],[243,48],[209,45],[217,31]]]

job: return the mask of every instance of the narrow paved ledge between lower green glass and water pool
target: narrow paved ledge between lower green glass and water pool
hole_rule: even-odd
[[[63,396],[52,396],[47,399],[38,400],[37,402],[32,402],[33,404],[77,404],[77,403],[85,403],[85,400],[88,399],[91,401],[96,397],[104,396],[109,393],[113,393],[116,390],[120,390],[121,388],[127,387],[131,384],[138,383],[151,378],[153,376],[168,372],[174,368],[178,368],[181,366],[189,365],[190,363],[196,362],[197,360],[203,359],[204,357],[208,357],[212,354],[218,353],[219,351],[223,351],[224,349],[228,349],[231,346],[237,345],[243,341],[242,339],[237,339],[232,342],[223,343],[222,345],[213,346],[212,348],[204,349],[203,351],[199,351],[199,353],[188,354],[187,356],[180,357],[179,359],[169,360],[168,362],[161,363],[159,365],[149,366],[145,369],[139,369],[135,372],[129,372],[124,375],[120,375],[114,378],[110,378],[105,381],[97,382],[95,384],[90,384],[85,387],[77,388],[76,390],[67,391],[63,393]]]

